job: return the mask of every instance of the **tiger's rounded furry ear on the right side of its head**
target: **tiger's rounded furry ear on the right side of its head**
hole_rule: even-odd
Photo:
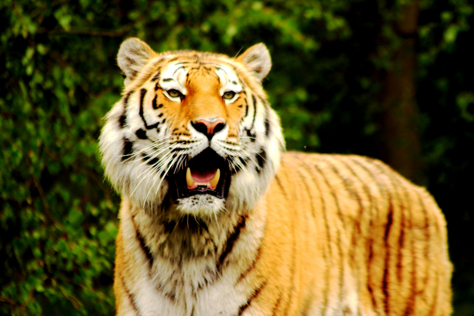
[[[247,70],[259,81],[262,81],[272,68],[272,59],[264,43],[255,44],[248,48],[237,57],[237,61],[243,63]]]

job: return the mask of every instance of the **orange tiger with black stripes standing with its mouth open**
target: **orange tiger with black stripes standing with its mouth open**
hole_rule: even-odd
[[[121,195],[118,316],[447,316],[444,216],[379,160],[286,152],[256,44],[119,48],[99,138]]]

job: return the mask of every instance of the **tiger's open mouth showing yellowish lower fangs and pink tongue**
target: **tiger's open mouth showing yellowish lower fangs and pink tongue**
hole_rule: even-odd
[[[224,199],[229,190],[230,170],[225,159],[208,147],[181,168],[170,168],[167,179],[173,199],[196,194]]]

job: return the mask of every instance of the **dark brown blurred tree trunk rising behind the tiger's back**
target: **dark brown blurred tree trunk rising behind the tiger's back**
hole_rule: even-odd
[[[395,23],[401,45],[383,78],[380,149],[386,163],[411,181],[422,184],[415,78],[418,13],[418,2],[413,1],[402,7]]]

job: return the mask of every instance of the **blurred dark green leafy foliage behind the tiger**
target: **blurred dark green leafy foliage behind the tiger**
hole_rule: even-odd
[[[381,157],[381,78],[407,0],[0,2],[0,313],[112,315],[118,196],[96,140],[129,36],[156,51],[235,55],[264,42],[289,149]],[[473,5],[420,0],[424,184],[444,210],[455,315],[474,315]],[[472,246],[471,246],[472,248]]]

